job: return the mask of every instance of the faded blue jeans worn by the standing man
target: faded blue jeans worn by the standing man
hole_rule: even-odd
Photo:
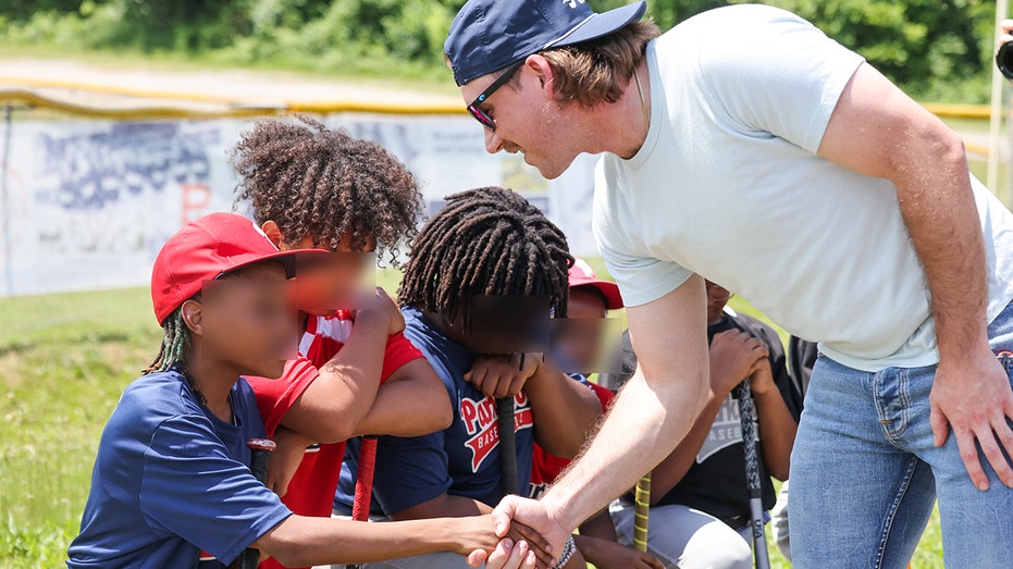
[[[1013,350],[1013,305],[988,332],[995,351]],[[791,455],[796,568],[905,567],[937,496],[948,568],[1013,567],[1013,490],[980,450],[990,487],[977,490],[952,432],[932,445],[935,371],[868,373],[818,358]]]

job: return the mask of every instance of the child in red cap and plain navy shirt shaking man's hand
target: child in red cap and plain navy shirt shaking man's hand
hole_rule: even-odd
[[[276,378],[294,349],[285,285],[295,261],[231,213],[190,222],[162,247],[151,275],[162,347],[102,432],[70,569],[193,569],[201,551],[227,564],[251,544],[293,566],[436,551],[478,565],[496,546],[489,518],[293,515],[252,475],[247,441],[264,424],[242,375]],[[388,304],[378,293],[358,321],[386,326]]]

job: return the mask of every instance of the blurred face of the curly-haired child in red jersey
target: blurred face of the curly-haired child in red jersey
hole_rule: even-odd
[[[354,308],[358,294],[371,289],[376,258],[373,244],[367,251],[353,251],[351,237],[346,236],[323,258],[299,260],[296,276],[289,282],[292,301],[296,308],[312,316],[328,317],[341,308]],[[312,237],[296,244],[277,243],[281,250],[317,249]]]

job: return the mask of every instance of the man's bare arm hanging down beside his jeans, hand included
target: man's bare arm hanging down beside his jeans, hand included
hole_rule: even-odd
[[[975,442],[1013,486],[1013,392],[988,345],[981,225],[963,141],[867,64],[851,77],[830,116],[819,156],[897,188],[901,215],[931,296],[939,347],[930,421],[936,445],[953,429],[975,484],[988,477]]]

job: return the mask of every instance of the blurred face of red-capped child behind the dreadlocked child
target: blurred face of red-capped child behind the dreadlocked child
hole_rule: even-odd
[[[565,372],[596,371],[602,355],[602,339],[608,309],[602,295],[582,287],[570,288],[567,318],[557,322],[553,352],[576,366]]]

